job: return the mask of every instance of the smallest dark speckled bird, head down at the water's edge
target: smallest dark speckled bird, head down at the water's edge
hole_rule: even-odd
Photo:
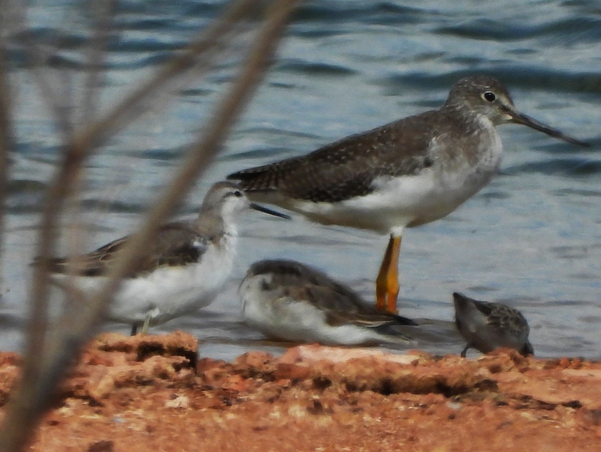
[[[502,303],[489,303],[453,293],[455,324],[468,341],[461,356],[468,349],[488,353],[501,347],[515,349],[523,356],[534,355],[528,341],[530,328],[525,317],[517,309]]]

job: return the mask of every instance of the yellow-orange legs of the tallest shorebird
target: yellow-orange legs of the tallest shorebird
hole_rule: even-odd
[[[398,254],[401,249],[401,236],[390,236],[386,253],[376,278],[376,308],[397,314],[398,296]]]

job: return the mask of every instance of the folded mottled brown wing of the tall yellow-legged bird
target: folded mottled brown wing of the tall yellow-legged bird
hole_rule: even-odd
[[[342,201],[370,194],[377,176],[416,174],[432,165],[428,155],[436,122],[426,112],[270,165],[243,169],[228,179],[245,191],[279,191],[302,200]]]

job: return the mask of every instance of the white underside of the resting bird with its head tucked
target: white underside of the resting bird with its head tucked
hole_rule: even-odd
[[[331,326],[326,314],[306,300],[281,296],[280,290],[264,290],[271,275],[255,275],[240,284],[239,295],[244,321],[270,338],[326,345],[359,345],[395,341],[370,328],[355,325]]]

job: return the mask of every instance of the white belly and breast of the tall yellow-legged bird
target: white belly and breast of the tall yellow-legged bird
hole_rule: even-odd
[[[255,197],[322,224],[398,235],[409,224],[426,224],[453,212],[497,172],[502,156],[501,138],[486,116],[480,115],[478,121],[489,133],[490,141],[483,140],[477,165],[469,165],[463,158],[458,158],[453,165],[445,165],[442,159],[436,158],[440,139],[433,139],[429,148],[433,166],[415,176],[378,177],[373,181],[376,191],[363,197],[337,203],[314,203],[278,194]]]

